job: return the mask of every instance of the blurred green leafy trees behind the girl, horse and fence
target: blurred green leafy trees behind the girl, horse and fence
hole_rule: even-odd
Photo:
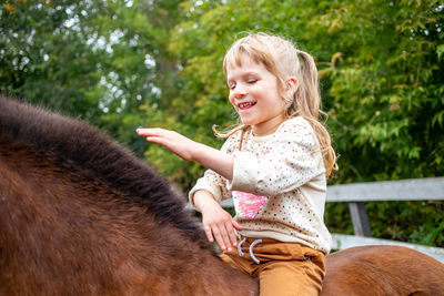
[[[182,192],[203,167],[135,134],[220,147],[236,122],[222,60],[246,32],[317,64],[340,155],[330,184],[444,175],[444,4],[433,0],[0,0],[0,93],[99,126]],[[372,235],[444,247],[444,202],[366,203]],[[327,204],[331,232],[353,233]]]

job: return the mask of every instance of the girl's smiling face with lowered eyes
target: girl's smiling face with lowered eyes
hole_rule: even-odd
[[[226,69],[230,103],[242,123],[252,126],[254,135],[272,134],[284,121],[284,100],[278,79],[246,53],[241,55],[241,64]]]

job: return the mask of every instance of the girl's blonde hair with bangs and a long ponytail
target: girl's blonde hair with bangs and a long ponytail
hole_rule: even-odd
[[[332,147],[332,140],[325,125],[320,122],[321,91],[319,86],[317,69],[313,58],[299,50],[292,42],[281,37],[266,33],[252,33],[235,41],[223,59],[223,71],[228,68],[241,65],[241,55],[246,53],[255,63],[263,64],[265,69],[278,79],[279,92],[285,101],[284,116],[302,116],[312,125],[321,145],[321,153],[329,176],[332,170],[337,170],[336,154]],[[301,67],[300,59],[303,64]],[[285,96],[285,81],[294,76],[297,79],[297,89],[291,96]],[[249,126],[239,124],[228,133],[220,133],[214,127],[218,136],[228,137]],[[241,136],[242,137],[242,136]]]

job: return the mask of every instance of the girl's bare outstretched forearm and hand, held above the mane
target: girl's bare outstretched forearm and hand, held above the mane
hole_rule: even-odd
[[[216,149],[194,142],[174,131],[164,129],[138,129],[147,141],[161,144],[185,161],[194,161],[226,180],[233,178],[233,156]]]

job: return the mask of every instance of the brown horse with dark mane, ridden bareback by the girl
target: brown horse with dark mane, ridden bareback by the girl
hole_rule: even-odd
[[[0,98],[0,295],[256,295],[168,182],[88,124]],[[323,295],[440,295],[444,265],[327,256]]]

